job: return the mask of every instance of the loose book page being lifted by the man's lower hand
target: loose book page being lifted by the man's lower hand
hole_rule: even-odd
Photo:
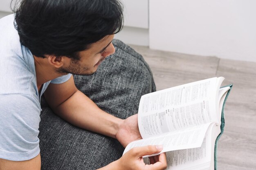
[[[200,124],[191,128],[180,129],[178,131],[164,133],[159,136],[137,140],[128,144],[124,150],[124,153],[126,153],[131,148],[147,145],[162,145],[163,150],[161,153],[171,150],[200,147],[205,133],[211,124],[212,123]]]

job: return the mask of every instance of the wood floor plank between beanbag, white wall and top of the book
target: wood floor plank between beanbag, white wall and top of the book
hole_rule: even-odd
[[[216,76],[219,59],[134,46],[150,66],[157,90]]]

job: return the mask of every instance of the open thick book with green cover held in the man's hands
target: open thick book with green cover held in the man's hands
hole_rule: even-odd
[[[128,144],[162,145],[169,170],[217,169],[217,143],[224,128],[224,106],[232,85],[215,77],[141,97],[138,111],[143,139]],[[149,163],[148,156],[144,161]]]

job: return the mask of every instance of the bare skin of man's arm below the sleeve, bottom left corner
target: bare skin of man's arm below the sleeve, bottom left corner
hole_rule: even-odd
[[[0,159],[0,170],[40,170],[41,157],[38,154],[33,159],[27,161],[9,161]]]

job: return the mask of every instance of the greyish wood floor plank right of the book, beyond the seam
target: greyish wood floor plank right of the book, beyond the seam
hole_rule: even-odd
[[[256,63],[220,59],[217,76],[233,83],[225,108],[225,130],[218,145],[220,169],[256,167]]]

